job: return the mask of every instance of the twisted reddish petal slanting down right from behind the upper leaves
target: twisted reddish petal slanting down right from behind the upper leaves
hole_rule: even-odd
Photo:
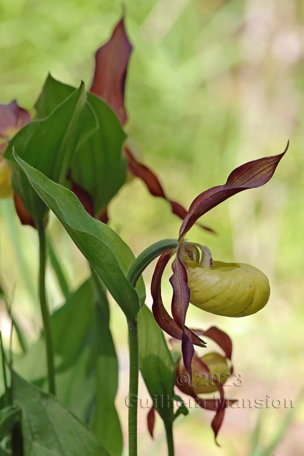
[[[128,147],[125,147],[124,151],[128,160],[129,171],[134,176],[139,177],[139,179],[141,179],[146,184],[151,195],[153,195],[154,197],[163,198],[166,201],[168,201],[170,203],[174,215],[177,215],[177,217],[184,220],[185,216],[187,215],[187,210],[185,209],[185,207],[183,207],[179,202],[170,200],[166,197],[165,191],[161,186],[158,177],[143,163],[139,163],[139,161],[135,159],[134,155]],[[201,228],[204,228],[207,231],[210,231],[211,233],[215,233],[211,228],[208,228],[204,225],[200,226]]]

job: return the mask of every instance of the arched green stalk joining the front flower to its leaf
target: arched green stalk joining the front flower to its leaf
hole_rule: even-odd
[[[152,244],[144,249],[144,251],[141,252],[136,259],[134,259],[134,262],[129,268],[127,279],[130,284],[135,286],[144,269],[146,269],[151,261],[167,250],[176,249],[178,245],[177,239],[162,239],[161,241],[157,241],[155,244]]]

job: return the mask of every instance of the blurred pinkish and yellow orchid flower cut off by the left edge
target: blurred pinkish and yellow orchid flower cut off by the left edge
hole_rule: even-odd
[[[3,158],[6,146],[17,131],[30,120],[30,114],[25,109],[20,108],[16,100],[9,104],[0,104],[0,198],[9,198],[13,195],[12,171]]]

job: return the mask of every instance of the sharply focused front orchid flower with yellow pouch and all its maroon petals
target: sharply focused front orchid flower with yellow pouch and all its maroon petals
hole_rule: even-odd
[[[197,334],[185,326],[189,303],[217,315],[241,317],[262,309],[269,298],[267,277],[247,264],[223,263],[212,260],[208,247],[188,242],[185,235],[203,214],[238,192],[266,184],[273,176],[279,161],[286,153],[249,161],[228,176],[225,185],[209,188],[191,203],[180,227],[179,245],[164,252],[156,266],[151,282],[152,311],[158,325],[171,337],[180,339],[183,362],[192,384],[191,362],[194,345],[202,346]],[[165,266],[172,263],[173,288],[171,312],[166,311],[161,297],[161,278]]]

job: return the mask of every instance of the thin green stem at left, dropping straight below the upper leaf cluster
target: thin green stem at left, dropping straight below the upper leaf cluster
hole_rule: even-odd
[[[43,223],[37,224],[39,236],[39,301],[46,339],[46,360],[49,392],[55,394],[54,348],[50,312],[46,302],[46,234]]]

